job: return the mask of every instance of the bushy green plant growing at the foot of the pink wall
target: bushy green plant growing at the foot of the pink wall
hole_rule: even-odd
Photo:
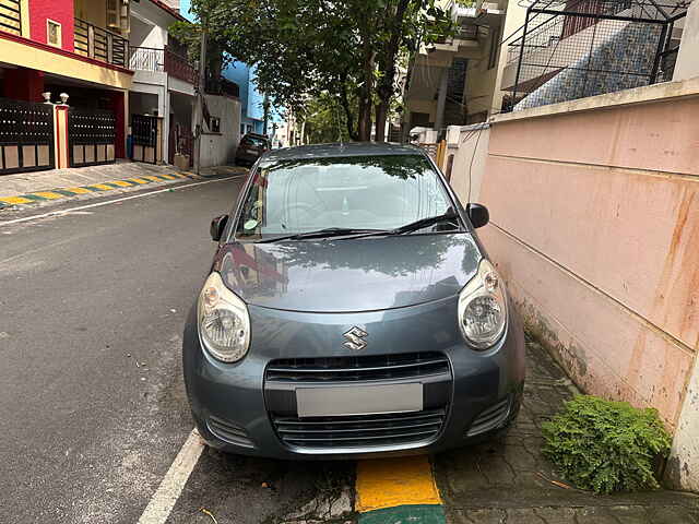
[[[579,488],[597,493],[657,488],[654,462],[671,438],[655,409],[580,395],[542,425],[543,453]]]

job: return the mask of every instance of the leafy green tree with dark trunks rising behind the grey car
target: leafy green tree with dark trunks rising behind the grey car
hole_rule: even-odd
[[[354,140],[369,140],[375,120],[383,136],[399,63],[451,31],[435,0],[193,0],[192,9],[222,51],[257,67],[261,92],[301,118],[311,100],[337,105]],[[180,39],[198,31],[175,28]]]

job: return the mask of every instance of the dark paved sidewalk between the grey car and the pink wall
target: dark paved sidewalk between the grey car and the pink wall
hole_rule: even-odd
[[[438,455],[435,469],[453,524],[699,524],[699,497],[656,490],[596,496],[568,487],[541,454],[541,424],[574,388],[548,354],[528,343],[524,403],[500,442]],[[560,483],[560,484],[557,484]]]

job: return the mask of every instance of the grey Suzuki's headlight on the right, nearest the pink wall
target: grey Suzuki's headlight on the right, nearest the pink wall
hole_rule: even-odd
[[[506,323],[505,286],[493,264],[483,259],[478,273],[459,295],[461,333],[476,349],[487,349],[500,340]]]

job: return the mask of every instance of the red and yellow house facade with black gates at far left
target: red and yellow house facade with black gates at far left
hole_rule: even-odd
[[[129,2],[1,0],[0,13],[0,105],[16,123],[0,139],[0,172],[126,157]],[[59,99],[71,111],[39,106]]]

